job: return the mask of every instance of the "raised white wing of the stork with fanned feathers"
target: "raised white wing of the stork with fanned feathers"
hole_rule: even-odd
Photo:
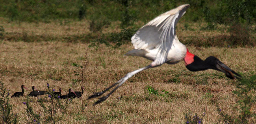
[[[176,35],[176,24],[189,6],[185,4],[167,11],[141,27],[131,38],[134,49],[150,50],[159,45],[164,50],[170,48]]]

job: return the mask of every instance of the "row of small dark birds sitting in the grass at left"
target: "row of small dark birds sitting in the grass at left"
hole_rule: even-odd
[[[21,90],[22,92],[15,92],[11,97],[20,97],[24,95],[24,88],[26,88],[24,85],[21,85]],[[62,89],[59,88],[59,92],[54,92],[54,98],[59,98],[59,99],[67,99],[67,98],[80,98],[83,95],[83,89],[84,86],[81,86],[82,92],[76,91],[74,92],[74,90],[72,90],[71,88],[69,89],[69,93],[67,95],[62,95],[61,92]],[[26,88],[26,90],[28,90]],[[28,94],[28,96],[32,96],[32,97],[37,97],[38,95],[45,95],[45,94],[49,94],[47,91],[43,91],[43,90],[37,90],[37,88],[35,88],[35,86],[32,86],[32,92],[30,92]]]

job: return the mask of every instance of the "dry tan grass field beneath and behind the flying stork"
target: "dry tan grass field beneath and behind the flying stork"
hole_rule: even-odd
[[[134,75],[106,101],[93,106],[97,99],[87,100],[89,95],[107,88],[126,73],[146,66],[151,61],[139,57],[124,57],[126,52],[133,49],[131,43],[114,49],[104,44],[89,47],[89,42],[58,40],[58,37],[90,32],[86,21],[59,25],[54,22],[15,23],[2,19],[1,23],[10,39],[0,40],[0,81],[10,89],[11,95],[20,91],[22,84],[31,91],[32,86],[46,90],[46,83],[49,83],[56,90],[62,88],[65,92],[63,94],[66,94],[69,88],[80,91],[80,87],[85,86],[81,98],[72,101],[60,100],[66,109],[61,110],[56,107],[55,120],[58,124],[184,124],[186,113],[193,115],[197,113],[205,124],[219,124],[224,122],[218,114],[217,106],[223,113],[229,115],[235,116],[239,113],[236,109],[239,99],[232,92],[237,89],[237,79],[228,79],[225,74],[215,70],[190,72],[183,61],[176,65],[164,64]],[[183,27],[183,25],[179,26]],[[200,36],[221,34],[221,31],[181,29],[177,34],[184,39],[186,36],[200,39]],[[118,27],[109,26],[103,32],[108,30],[120,31]],[[57,39],[34,42],[13,40],[15,39],[13,37],[18,37],[22,32],[26,32],[28,36]],[[198,36],[195,36],[197,34]],[[193,45],[187,47],[191,53],[202,59],[208,56],[219,58],[244,77],[256,74],[255,47],[193,47]],[[87,65],[83,66],[85,67],[83,73],[81,68],[72,65],[72,63],[84,65],[85,62]],[[152,89],[158,92],[150,93]],[[30,91],[25,90],[24,94],[28,95]],[[252,95],[255,95],[254,92]],[[50,98],[47,95],[40,98],[48,100],[44,103],[50,106]],[[26,105],[22,104],[26,99],[26,97],[10,99],[13,112],[18,113],[20,124],[33,123],[32,120],[28,120]],[[33,111],[41,114],[40,121],[45,121],[47,115],[37,102],[38,99],[36,97],[29,99]],[[255,105],[252,106],[251,111],[256,112]],[[256,122],[256,119],[251,117],[249,122]]]

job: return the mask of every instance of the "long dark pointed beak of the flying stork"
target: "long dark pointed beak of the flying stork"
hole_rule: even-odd
[[[226,76],[230,79],[241,79],[242,76],[237,74],[236,72],[234,72],[232,69],[228,68],[228,66],[226,66],[224,63],[222,63],[221,61],[217,61],[217,65],[216,67],[221,71],[224,72],[226,74]]]

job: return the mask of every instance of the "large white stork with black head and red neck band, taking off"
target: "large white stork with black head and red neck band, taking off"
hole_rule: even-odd
[[[101,97],[93,105],[105,101],[113,92],[115,92],[115,90],[117,90],[117,88],[133,75],[148,68],[160,66],[163,63],[176,64],[182,59],[184,60],[187,69],[193,72],[214,69],[224,72],[230,79],[239,79],[239,77],[241,77],[241,75],[231,70],[228,66],[219,61],[219,59],[210,56],[203,61],[198,56],[190,53],[187,47],[180,43],[175,32],[175,27],[178,20],[180,20],[183,14],[186,13],[189,6],[189,4],[181,5],[157,16],[141,27],[136,34],[132,36],[131,40],[134,50],[126,53],[126,56],[141,56],[150,59],[153,62],[148,66],[129,72],[106,90],[91,95],[88,99],[99,97],[118,84],[108,95]]]

